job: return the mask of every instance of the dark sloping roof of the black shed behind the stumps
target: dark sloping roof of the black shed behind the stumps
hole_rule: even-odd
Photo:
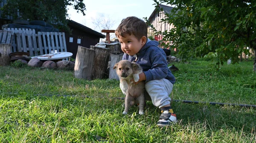
[[[75,27],[75,28],[78,28],[78,29],[80,29],[81,31],[85,31],[85,32],[88,32],[88,33],[90,33],[90,34],[99,36],[100,38],[105,38],[105,37],[106,37],[105,35],[103,35],[103,34],[97,32],[97,31],[94,31],[93,29],[88,28],[88,27],[86,27],[86,26],[84,26],[84,25],[81,25],[80,23],[75,22],[75,21],[73,21],[73,20],[69,20],[67,25],[70,25],[70,26],[73,26],[73,27]]]

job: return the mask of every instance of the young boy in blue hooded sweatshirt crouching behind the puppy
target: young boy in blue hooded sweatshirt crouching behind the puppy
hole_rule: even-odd
[[[137,17],[127,17],[122,20],[115,34],[124,52],[122,59],[136,62],[143,68],[138,82],[145,81],[145,89],[152,103],[161,109],[157,125],[164,127],[176,123],[169,97],[175,77],[167,67],[166,54],[158,47],[159,43],[147,38],[146,23]]]

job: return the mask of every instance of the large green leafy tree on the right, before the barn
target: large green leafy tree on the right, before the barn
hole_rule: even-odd
[[[175,5],[162,22],[175,25],[170,32],[156,31],[163,40],[173,41],[167,45],[179,49],[182,58],[203,57],[215,53],[216,65],[227,59],[239,62],[246,47],[256,51],[256,3],[253,0],[154,0]],[[163,11],[163,9],[159,9]],[[153,28],[154,29],[154,28]],[[167,43],[168,44],[168,43]],[[256,52],[255,52],[256,53]],[[256,69],[256,55],[254,60]]]

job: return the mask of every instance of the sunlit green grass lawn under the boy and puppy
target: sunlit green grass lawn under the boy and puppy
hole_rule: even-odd
[[[175,63],[176,100],[256,104],[253,62]],[[87,98],[86,96],[90,96]],[[178,123],[156,126],[160,110],[122,115],[119,81],[74,79],[73,71],[0,67],[1,143],[255,143],[256,109],[172,102]]]

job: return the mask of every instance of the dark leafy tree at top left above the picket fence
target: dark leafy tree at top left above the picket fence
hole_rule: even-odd
[[[10,15],[15,20],[43,20],[67,28],[67,6],[73,6],[85,15],[83,0],[7,0],[1,10],[2,17]]]

